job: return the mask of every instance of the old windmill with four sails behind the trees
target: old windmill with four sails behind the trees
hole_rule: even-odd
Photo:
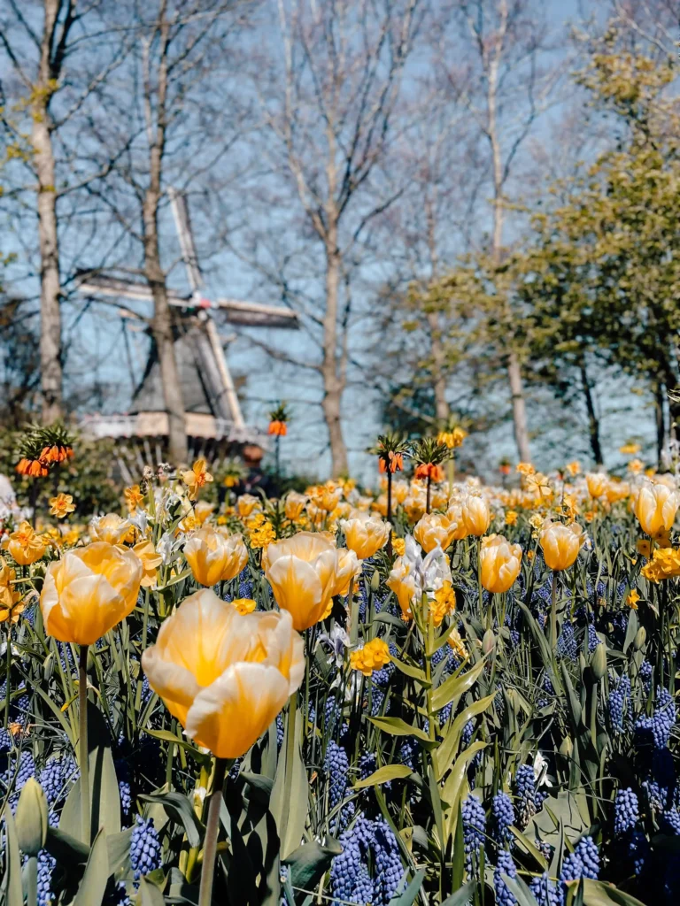
[[[176,309],[175,357],[185,408],[187,438],[193,456],[211,448],[213,456],[218,450],[234,444],[258,443],[265,439],[257,429],[248,426],[243,418],[234,381],[229,371],[223,340],[219,336],[214,313],[223,313],[228,324],[248,327],[297,330],[296,313],[279,305],[244,302],[236,299],[210,301],[201,294],[203,278],[199,268],[189,207],[184,195],[170,189],[170,202],[175,227],[180,239],[182,260],[186,267],[190,294],[180,294],[168,289],[168,302]],[[133,281],[100,271],[81,272],[78,275],[80,293],[96,300],[97,297],[114,297],[121,317],[149,325],[148,319],[123,304],[152,302],[149,284]],[[127,334],[123,334],[127,344]],[[233,337],[228,338],[228,340]],[[126,345],[126,351],[129,352]],[[131,408],[124,415],[88,416],[83,419],[83,429],[94,438],[121,439],[119,465],[127,480],[129,469],[125,459],[136,464],[151,464],[151,444],[155,446],[155,461],[162,459],[162,449],[168,435],[168,415],[165,410],[160,364],[155,346],[146,363],[141,381],[132,394]],[[129,448],[128,443],[139,439],[139,446]]]

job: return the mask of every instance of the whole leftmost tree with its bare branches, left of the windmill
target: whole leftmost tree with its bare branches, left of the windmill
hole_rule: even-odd
[[[77,0],[8,0],[0,18],[0,60],[11,73],[0,82],[0,121],[11,156],[31,173],[40,252],[40,374],[43,419],[63,414],[62,313],[58,204],[82,183],[83,173],[65,168],[55,148],[57,136],[77,133],[73,120],[83,116],[102,82],[121,63],[124,40],[103,32],[104,0],[79,7]],[[92,34],[98,52],[88,53]],[[103,52],[102,52],[103,47]],[[26,141],[24,115],[30,121]],[[102,174],[100,174],[102,175]],[[21,188],[27,188],[25,185]]]

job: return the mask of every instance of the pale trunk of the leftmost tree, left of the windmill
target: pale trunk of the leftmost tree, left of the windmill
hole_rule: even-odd
[[[59,0],[45,0],[43,37],[40,46],[38,78],[31,107],[34,167],[38,185],[38,239],[40,245],[40,382],[43,397],[43,421],[51,424],[63,415],[62,410],[62,314],[59,278],[59,242],[57,236],[56,189],[54,186],[54,152],[49,114],[53,93],[50,54],[53,33],[59,13]]]

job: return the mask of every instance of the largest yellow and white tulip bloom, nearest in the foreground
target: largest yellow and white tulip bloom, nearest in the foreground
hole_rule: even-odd
[[[240,614],[207,589],[163,623],[141,663],[187,735],[219,758],[244,755],[305,673],[289,613]]]

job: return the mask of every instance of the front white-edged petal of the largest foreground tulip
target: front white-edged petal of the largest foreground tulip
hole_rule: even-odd
[[[238,758],[277,717],[288,689],[276,667],[233,664],[199,692],[187,714],[187,735],[219,758]]]

